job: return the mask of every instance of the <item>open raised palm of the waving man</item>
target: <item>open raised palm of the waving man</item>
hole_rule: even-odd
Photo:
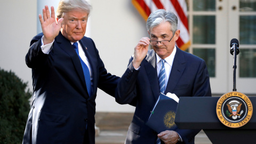
[[[63,21],[63,18],[60,18],[58,22],[56,22],[54,7],[51,6],[51,14],[50,14],[48,6],[45,5],[45,9],[43,9],[43,18],[42,18],[42,15],[39,14],[39,20],[41,22],[42,31],[44,34],[44,38],[43,38],[44,45],[53,42],[54,38],[59,34],[59,31],[61,29],[61,22]]]

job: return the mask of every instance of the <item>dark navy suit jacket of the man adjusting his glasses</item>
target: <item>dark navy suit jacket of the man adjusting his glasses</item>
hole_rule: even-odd
[[[126,143],[152,143],[157,133],[145,123],[159,96],[159,84],[156,67],[156,53],[149,50],[141,62],[140,69],[130,65],[117,85],[116,101],[136,106],[135,113],[126,137]],[[178,97],[211,96],[209,74],[205,61],[177,47],[166,93],[174,93]],[[184,111],[186,113],[186,111]],[[194,143],[195,135],[200,130],[175,130],[183,139],[182,143]]]

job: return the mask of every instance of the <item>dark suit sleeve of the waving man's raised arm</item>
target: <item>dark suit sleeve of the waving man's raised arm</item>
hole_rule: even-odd
[[[41,38],[43,33],[35,36],[30,42],[30,48],[26,55],[26,64],[29,68],[38,68],[44,65],[48,55],[41,50]]]

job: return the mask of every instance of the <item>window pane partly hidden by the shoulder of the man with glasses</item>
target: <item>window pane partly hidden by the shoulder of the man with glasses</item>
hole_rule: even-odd
[[[215,49],[193,49],[193,54],[202,58],[207,65],[210,77],[215,77]]]

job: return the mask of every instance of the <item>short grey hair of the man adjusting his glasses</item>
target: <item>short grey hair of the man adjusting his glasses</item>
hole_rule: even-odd
[[[173,12],[165,11],[163,9],[151,13],[147,20],[147,29],[150,32],[154,27],[160,25],[162,22],[169,22],[172,26],[170,29],[174,34],[178,26],[178,18]]]

